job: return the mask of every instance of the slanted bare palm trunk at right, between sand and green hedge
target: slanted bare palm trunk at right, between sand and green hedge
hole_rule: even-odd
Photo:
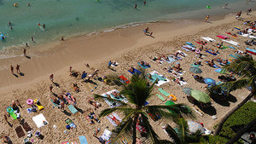
[[[231,109],[231,111],[228,112],[228,113],[224,116],[224,118],[222,118],[222,120],[220,121],[220,123],[218,123],[216,130],[214,130],[213,135],[218,135],[218,134],[219,134],[219,132],[220,132],[220,130],[222,129],[223,124],[225,123],[225,121],[228,120],[228,118],[230,118],[230,116],[231,116],[234,112],[236,112],[236,110],[238,110],[238,109],[239,109],[240,107],[242,107],[245,103],[247,103],[247,101],[249,101],[249,100],[253,97],[253,95],[255,95],[255,92],[254,92],[254,91],[255,91],[255,90],[252,89],[252,92],[250,93],[250,95],[247,95],[247,97],[246,97],[243,101],[241,101],[238,105],[236,105],[236,107],[234,107],[233,109]]]

